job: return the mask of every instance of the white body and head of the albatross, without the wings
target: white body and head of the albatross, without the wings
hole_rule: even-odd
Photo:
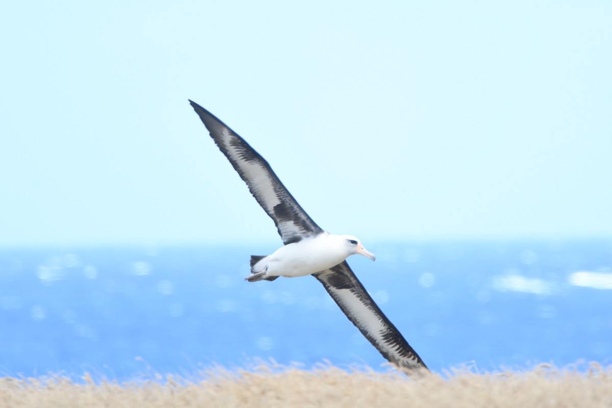
[[[253,265],[251,272],[262,277],[312,275],[334,267],[356,253],[374,259],[374,255],[366,251],[356,237],[323,232],[278,248]],[[248,278],[253,278],[253,275]]]

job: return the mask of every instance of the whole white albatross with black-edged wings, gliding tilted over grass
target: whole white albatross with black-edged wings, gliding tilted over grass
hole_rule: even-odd
[[[251,256],[251,274],[245,280],[315,276],[349,321],[392,365],[398,369],[427,369],[346,263],[346,258],[353,254],[374,261],[374,254],[354,236],[330,234],[321,229],[255,149],[202,106],[192,100],[189,103],[253,197],[274,220],[283,240],[283,247],[271,255]]]

